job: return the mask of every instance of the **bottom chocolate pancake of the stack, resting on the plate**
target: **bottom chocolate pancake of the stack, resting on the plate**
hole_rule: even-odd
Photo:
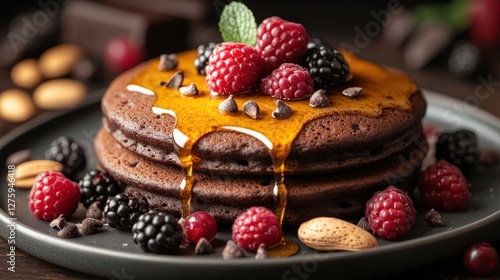
[[[420,139],[425,143],[425,139]],[[366,201],[388,184],[411,191],[425,153],[417,143],[398,156],[389,157],[369,168],[347,172],[295,175],[286,177],[289,190],[284,222],[300,224],[318,216],[357,220]],[[101,129],[95,140],[101,169],[125,183],[129,190],[148,198],[152,208],[180,215],[179,184],[181,168],[151,161],[119,144]],[[231,223],[251,206],[273,208],[273,176],[245,176],[221,173],[195,173],[191,211],[207,211],[218,222]]]

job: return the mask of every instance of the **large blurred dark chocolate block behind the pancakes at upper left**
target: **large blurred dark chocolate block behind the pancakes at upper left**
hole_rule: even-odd
[[[118,2],[73,0],[62,10],[61,40],[103,59],[108,42],[124,37],[143,47],[149,59],[186,49],[188,29],[185,18]]]

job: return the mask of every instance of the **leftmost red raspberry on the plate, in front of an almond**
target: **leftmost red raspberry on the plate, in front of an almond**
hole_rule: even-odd
[[[29,195],[29,209],[39,219],[51,221],[71,216],[80,201],[78,184],[62,173],[46,171],[37,175]]]

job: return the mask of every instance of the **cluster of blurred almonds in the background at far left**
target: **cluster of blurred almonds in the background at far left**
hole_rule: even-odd
[[[80,46],[61,44],[37,58],[15,64],[10,73],[17,87],[0,93],[0,119],[20,124],[40,110],[70,109],[87,95],[84,80],[96,73],[96,65]]]

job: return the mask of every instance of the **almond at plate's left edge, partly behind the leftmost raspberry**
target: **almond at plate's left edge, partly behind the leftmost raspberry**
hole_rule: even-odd
[[[38,173],[63,170],[63,165],[53,160],[31,160],[16,166],[16,187],[31,188]]]

